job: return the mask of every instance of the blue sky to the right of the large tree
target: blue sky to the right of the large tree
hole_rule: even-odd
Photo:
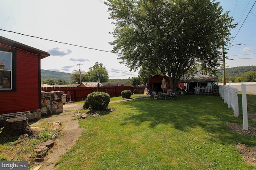
[[[238,23],[232,29],[230,41],[232,44],[228,49],[228,61],[226,66],[248,66],[256,65],[256,4],[255,0],[216,0],[224,11],[230,11],[234,18],[233,24]],[[253,6],[254,5],[254,6]],[[253,6],[253,8],[252,8]],[[251,10],[251,11],[250,11]],[[249,13],[250,12],[250,13]],[[247,18],[246,18],[247,17]],[[242,45],[236,45],[240,44]],[[232,46],[234,45],[234,46]]]

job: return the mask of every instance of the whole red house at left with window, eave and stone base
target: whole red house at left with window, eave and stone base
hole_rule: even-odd
[[[0,119],[41,115],[40,61],[48,56],[0,36]]]

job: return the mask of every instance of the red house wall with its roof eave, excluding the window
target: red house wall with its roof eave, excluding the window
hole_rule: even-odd
[[[0,115],[40,109],[40,60],[47,52],[0,36],[0,48],[16,51],[14,90],[0,90]]]

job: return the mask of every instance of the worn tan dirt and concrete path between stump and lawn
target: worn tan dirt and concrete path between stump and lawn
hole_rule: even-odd
[[[40,167],[40,170],[53,170],[56,161],[74,144],[76,140],[82,134],[82,128],[78,127],[78,120],[74,120],[77,114],[77,109],[82,107],[83,104],[66,104],[64,106],[64,112],[59,115],[52,115],[50,117],[42,118],[42,121],[46,121],[46,127],[49,129],[59,129],[62,136],[55,140],[55,145],[52,147],[48,155],[45,157],[45,161],[35,164],[34,169]],[[39,131],[38,127],[41,121],[31,123],[31,128]],[[50,126],[48,127],[47,124]]]

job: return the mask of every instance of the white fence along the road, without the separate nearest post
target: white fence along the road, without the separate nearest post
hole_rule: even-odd
[[[229,87],[229,86],[219,86],[219,94],[222,99],[224,99],[224,103],[228,104],[228,108],[232,108],[234,110],[235,117],[238,117],[238,90],[237,88]]]

